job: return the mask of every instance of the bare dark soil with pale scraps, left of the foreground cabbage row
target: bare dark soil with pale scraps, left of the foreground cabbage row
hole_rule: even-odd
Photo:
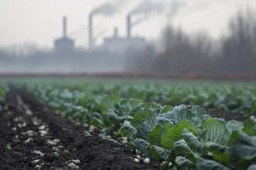
[[[10,90],[2,107],[0,169],[72,169],[72,162],[73,169],[162,169],[157,162],[134,162],[128,148],[97,132],[85,137],[87,128],[59,117],[26,92]]]

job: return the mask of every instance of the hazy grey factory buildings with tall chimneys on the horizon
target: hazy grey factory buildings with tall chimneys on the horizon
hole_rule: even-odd
[[[95,46],[95,39],[93,36],[93,15],[88,17],[88,49],[107,50],[109,53],[125,53],[129,49],[144,49],[145,39],[141,37],[132,36],[132,22],[131,15],[126,17],[126,36],[120,37],[118,35],[118,28],[114,29],[113,36],[105,38],[102,46]],[[54,41],[54,50],[57,53],[67,53],[74,51],[74,40],[67,36],[67,17],[63,17],[63,36]]]

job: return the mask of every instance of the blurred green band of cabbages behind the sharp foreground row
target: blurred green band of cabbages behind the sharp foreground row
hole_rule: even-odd
[[[115,94],[161,104],[199,105],[236,113],[256,114],[256,86],[253,83],[202,83],[165,81],[88,81],[62,83],[89,93]]]

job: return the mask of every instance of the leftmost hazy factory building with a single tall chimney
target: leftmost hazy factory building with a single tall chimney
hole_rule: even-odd
[[[63,17],[63,37],[54,41],[54,49],[57,52],[74,51],[74,40],[67,37],[67,18]]]

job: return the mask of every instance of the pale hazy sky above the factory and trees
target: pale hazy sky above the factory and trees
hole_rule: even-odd
[[[141,0],[143,1],[143,0]],[[119,11],[112,15],[95,15],[94,30],[97,42],[112,36],[119,28],[119,36],[126,35],[126,14],[140,4],[139,0],[114,0]],[[145,1],[145,0],[144,0]],[[0,0],[0,46],[36,43],[52,48],[54,39],[62,36],[62,16],[67,16],[67,34],[76,46],[88,46],[88,14],[106,0]],[[155,0],[164,4],[147,15],[132,29],[133,36],[157,39],[168,22],[185,32],[205,30],[213,38],[227,32],[227,22],[237,9],[249,6],[256,9],[256,0]],[[182,2],[182,5],[177,5]],[[155,5],[157,6],[157,5]],[[147,7],[145,10],[149,9]],[[171,10],[169,10],[171,9]],[[161,12],[164,11],[164,12]],[[157,15],[158,13],[158,15]],[[136,18],[133,18],[136,19]]]

